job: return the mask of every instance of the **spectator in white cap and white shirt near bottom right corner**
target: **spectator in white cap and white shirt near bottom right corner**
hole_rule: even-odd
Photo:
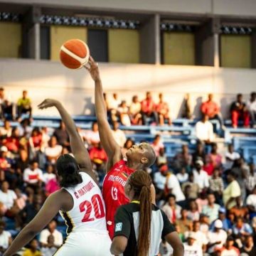
[[[208,252],[213,253],[219,250],[225,244],[228,238],[227,233],[223,230],[221,220],[215,220],[214,231],[208,233]]]

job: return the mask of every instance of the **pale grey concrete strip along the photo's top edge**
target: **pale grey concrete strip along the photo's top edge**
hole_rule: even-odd
[[[255,16],[255,0],[0,0],[3,3],[72,6],[94,9],[124,9],[126,11],[174,12],[184,14],[227,14]]]

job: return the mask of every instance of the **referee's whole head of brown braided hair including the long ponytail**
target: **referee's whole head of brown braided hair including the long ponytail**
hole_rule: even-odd
[[[134,196],[139,198],[139,236],[137,255],[147,256],[150,245],[151,228],[151,178],[146,171],[135,171],[129,177],[129,184],[134,189]]]

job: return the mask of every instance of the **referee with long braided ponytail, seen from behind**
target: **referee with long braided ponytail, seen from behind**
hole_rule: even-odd
[[[165,213],[151,204],[151,178],[146,171],[135,171],[124,191],[131,203],[120,206],[114,216],[113,255],[155,256],[161,239],[174,248],[174,256],[183,256],[183,244]]]

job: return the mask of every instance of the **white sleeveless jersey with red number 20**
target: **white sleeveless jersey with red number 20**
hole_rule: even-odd
[[[65,188],[73,197],[74,206],[68,212],[60,211],[67,234],[81,231],[106,231],[105,203],[100,188],[90,175],[80,172],[82,183]]]

